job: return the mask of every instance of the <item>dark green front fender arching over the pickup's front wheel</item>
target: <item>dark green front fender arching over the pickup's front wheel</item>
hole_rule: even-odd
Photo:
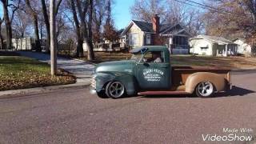
[[[120,73],[120,72],[105,72],[95,74],[96,80],[96,91],[105,90],[105,86],[108,82],[119,81],[126,88],[126,93],[128,95],[133,95],[136,92],[136,81],[134,75],[129,73]]]

